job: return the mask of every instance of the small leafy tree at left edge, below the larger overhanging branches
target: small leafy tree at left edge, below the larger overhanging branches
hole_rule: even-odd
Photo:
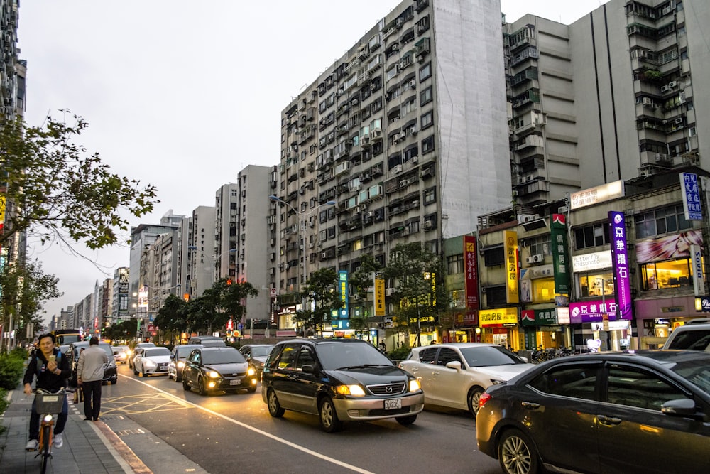
[[[43,303],[62,296],[58,290],[58,278],[46,275],[39,261],[18,262],[0,266],[0,325],[25,328],[33,323],[36,330],[43,326],[41,313]],[[24,337],[20,331],[19,336]]]

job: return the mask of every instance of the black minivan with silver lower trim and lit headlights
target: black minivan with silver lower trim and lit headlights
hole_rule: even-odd
[[[261,397],[271,416],[285,410],[317,414],[328,433],[344,421],[394,418],[408,425],[424,409],[417,379],[358,339],[277,343],[263,368]]]

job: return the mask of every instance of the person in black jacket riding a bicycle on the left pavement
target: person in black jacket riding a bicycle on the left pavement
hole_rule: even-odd
[[[32,394],[32,380],[36,376],[35,387],[45,389],[55,393],[65,387],[67,377],[70,375],[69,360],[62,355],[58,348],[55,348],[55,337],[53,334],[40,335],[38,339],[38,350],[35,350],[27,366],[23,382],[25,384],[25,394]],[[64,399],[62,412],[57,417],[57,424],[54,427],[54,447],[61,448],[64,444],[62,431],[67,424],[69,413],[67,399]],[[40,414],[37,413],[35,402],[32,402],[32,414],[30,415],[30,439],[25,447],[28,451],[35,451],[38,445],[40,432]]]

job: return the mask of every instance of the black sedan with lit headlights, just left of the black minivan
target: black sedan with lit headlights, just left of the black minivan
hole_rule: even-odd
[[[231,347],[193,349],[182,368],[182,388],[195,387],[201,395],[220,390],[256,392],[256,382],[256,371]]]

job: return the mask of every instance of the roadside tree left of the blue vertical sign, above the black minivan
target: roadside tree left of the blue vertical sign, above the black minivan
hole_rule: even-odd
[[[333,312],[343,307],[337,285],[338,274],[334,269],[324,268],[310,274],[300,293],[306,304],[302,305],[294,317],[294,320],[303,326],[304,335],[311,329],[322,335],[323,327],[330,323]]]

